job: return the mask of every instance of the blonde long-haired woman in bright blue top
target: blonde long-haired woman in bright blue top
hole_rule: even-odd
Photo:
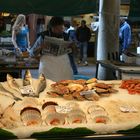
[[[25,15],[18,15],[12,27],[12,42],[16,52],[26,52],[30,48],[29,29]]]

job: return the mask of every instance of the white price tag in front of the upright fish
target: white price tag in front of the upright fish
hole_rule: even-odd
[[[31,85],[23,86],[22,88],[20,88],[20,91],[22,95],[34,96],[35,94]]]

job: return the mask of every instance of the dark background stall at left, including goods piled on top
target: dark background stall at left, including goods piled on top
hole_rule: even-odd
[[[23,54],[24,55],[24,54]],[[6,74],[10,73],[16,78],[22,77],[22,70],[38,69],[39,58],[29,57],[25,54],[22,57],[17,57],[13,51],[2,49],[0,50],[0,81],[6,80]]]

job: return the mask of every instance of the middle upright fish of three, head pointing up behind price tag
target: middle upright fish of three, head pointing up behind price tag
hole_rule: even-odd
[[[23,86],[32,85],[32,75],[30,70],[26,70],[23,79]]]

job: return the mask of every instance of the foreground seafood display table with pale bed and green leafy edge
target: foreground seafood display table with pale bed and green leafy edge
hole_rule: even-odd
[[[33,83],[32,87],[34,88],[35,91],[37,91],[37,88],[39,87],[39,78],[31,79],[31,80]],[[92,80],[95,81],[95,79],[92,79]],[[57,84],[59,84],[59,82],[56,84],[54,81],[51,81],[49,79],[46,79],[47,86],[43,92],[40,92],[39,97],[22,96],[19,89],[15,90],[15,88],[10,86],[10,83],[8,84],[7,81],[1,82],[1,85],[3,86],[5,90],[7,90],[7,92],[4,92],[2,89],[0,91],[0,105],[3,110],[6,110],[4,111],[4,115],[3,115],[5,116],[5,118],[4,117],[1,118],[1,122],[4,124],[4,126],[3,125],[1,126],[0,138],[5,136],[6,138],[45,138],[45,139],[46,138],[49,138],[49,139],[65,139],[65,138],[66,139],[139,139],[140,138],[139,136],[139,132],[140,132],[140,125],[139,125],[140,124],[140,119],[139,119],[140,118],[139,117],[140,116],[140,112],[139,112],[140,96],[139,94],[131,95],[131,94],[128,94],[128,91],[126,89],[120,88],[120,85],[122,83],[121,80],[113,80],[113,81],[99,81],[98,80],[97,82],[96,81],[93,82],[92,80],[89,80],[89,81],[85,81],[85,80],[65,81],[64,80],[61,82],[62,83],[64,82],[65,84],[66,82],[68,83],[70,82],[70,84],[66,86],[66,87],[69,87],[70,90],[72,90],[74,86],[75,87],[78,86],[80,88],[82,87],[83,84],[84,86],[87,86],[88,89],[91,89],[91,86],[93,86],[92,88],[94,88],[95,84],[99,84],[98,86],[101,86],[101,83],[102,84],[104,83],[104,84],[108,84],[109,87],[111,86],[112,89],[115,90],[115,92],[117,90],[117,92],[110,93],[109,96],[100,95],[98,100],[92,100],[92,101],[86,100],[86,98],[84,100],[80,100],[81,98],[79,98],[79,100],[77,100],[78,98],[66,100],[65,98],[63,98],[64,96],[62,96],[62,95],[67,95],[66,90],[62,90],[62,92],[65,91],[64,94],[57,94],[58,96],[56,95],[50,96],[48,92],[53,91],[52,87],[54,86],[57,87]],[[22,87],[23,79],[15,79],[15,81],[18,83],[19,87]],[[89,83],[91,81],[92,83]],[[81,84],[78,84],[77,82]],[[105,86],[104,84],[103,86]],[[79,88],[77,90],[80,90]],[[96,90],[98,89],[99,88],[97,88]],[[22,100],[17,101],[11,95],[18,96]],[[55,124],[51,124],[52,121],[48,122],[48,120],[46,120],[47,115],[49,115],[46,112],[47,110],[45,110],[43,107],[44,104],[46,103],[58,104],[58,107],[60,108],[57,108],[58,110],[56,109],[57,110],[56,114],[58,115],[59,113],[61,113],[61,118],[65,117],[66,119],[65,123],[61,124],[61,121],[60,121],[59,124],[55,125]],[[133,110],[134,112],[122,112],[120,110],[120,107],[123,107],[125,105],[127,105],[130,108],[133,107],[137,111]],[[71,117],[70,118],[68,117],[71,111],[67,110],[69,109],[70,106],[73,109],[76,109],[76,111],[78,110],[82,111],[82,112],[81,111],[75,112],[76,114],[78,113],[80,116],[83,116],[83,113],[84,113],[85,117],[84,119],[82,119],[82,122],[71,123]],[[95,122],[94,114],[92,114],[92,111],[95,111],[95,110],[92,110],[92,107],[93,109],[95,109],[95,106],[99,106],[99,108],[101,109],[99,112],[96,112],[97,113],[96,115],[98,115],[99,113],[99,116],[100,114],[106,117],[108,116],[107,118],[109,120],[106,123]],[[63,107],[66,107],[65,111],[68,111],[67,113],[63,112],[63,109],[64,109]],[[22,115],[24,114],[22,113],[23,113],[23,110],[27,111],[25,110],[27,108],[35,109],[34,110],[35,112],[36,111],[38,112],[38,110],[40,110],[39,114],[41,115],[41,118],[40,118],[42,120],[41,124],[37,123],[34,125],[34,123],[33,124],[31,123],[28,125],[24,122],[22,118]],[[99,108],[97,107],[96,109],[99,109]],[[51,112],[48,112],[48,113],[51,114]],[[75,115],[75,113],[74,114],[73,113],[71,115]],[[7,118],[8,116],[10,117],[10,120]],[[12,117],[12,120],[11,120],[11,117]],[[9,123],[7,123],[7,121],[4,121],[5,119]],[[58,119],[60,118],[58,117]],[[5,132],[5,130],[7,132]]]

